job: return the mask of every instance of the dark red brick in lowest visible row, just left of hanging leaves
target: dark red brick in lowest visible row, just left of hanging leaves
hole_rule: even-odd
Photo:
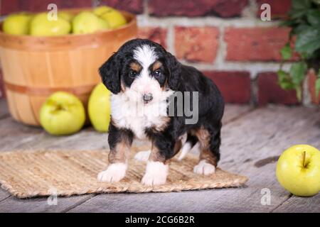
[[[276,72],[262,72],[257,77],[258,97],[260,106],[273,104],[299,104],[294,90],[284,91],[277,84]]]

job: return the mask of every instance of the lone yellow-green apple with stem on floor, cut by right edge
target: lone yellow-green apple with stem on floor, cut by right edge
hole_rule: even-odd
[[[296,196],[313,196],[320,191],[320,151],[310,145],[294,145],[279,157],[279,183]]]

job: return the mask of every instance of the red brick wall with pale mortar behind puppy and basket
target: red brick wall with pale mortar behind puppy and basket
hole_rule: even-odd
[[[139,37],[164,45],[181,62],[213,79],[225,101],[240,104],[298,104],[295,92],[277,85],[279,49],[289,30],[277,28],[290,0],[0,0],[1,15],[108,4],[138,16]],[[260,20],[260,6],[271,5],[272,21]],[[297,60],[297,56],[292,61]],[[290,62],[284,63],[287,69]],[[309,84],[312,83],[311,77]],[[304,104],[316,102],[306,85]]]

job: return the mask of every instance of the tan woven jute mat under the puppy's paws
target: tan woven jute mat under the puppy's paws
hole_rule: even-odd
[[[137,150],[133,149],[132,157]],[[145,149],[144,149],[145,150]],[[117,192],[180,192],[194,189],[240,187],[247,177],[219,168],[214,175],[193,173],[197,157],[187,155],[182,161],[174,158],[169,165],[166,184],[149,187],[140,183],[146,162],[131,158],[127,176],[120,182],[98,182],[97,173],[107,167],[105,150],[36,150],[0,153],[0,184],[18,198],[34,196],[71,196]]]

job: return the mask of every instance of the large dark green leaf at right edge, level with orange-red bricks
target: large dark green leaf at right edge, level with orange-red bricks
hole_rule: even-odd
[[[320,27],[314,28],[308,26],[297,35],[295,49],[297,52],[306,52],[307,55],[320,48]]]

